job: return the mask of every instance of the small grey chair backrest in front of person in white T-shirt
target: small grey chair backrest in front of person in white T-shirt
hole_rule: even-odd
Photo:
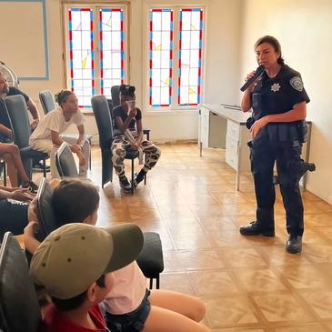
[[[61,177],[77,177],[77,167],[70,147],[64,142],[55,153],[55,165]]]

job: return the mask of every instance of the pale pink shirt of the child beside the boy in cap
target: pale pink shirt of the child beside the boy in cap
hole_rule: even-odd
[[[146,277],[136,261],[115,272],[114,285],[103,301],[103,307],[113,315],[134,311],[146,296]]]

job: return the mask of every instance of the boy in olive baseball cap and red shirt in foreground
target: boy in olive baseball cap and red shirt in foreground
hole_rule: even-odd
[[[35,251],[30,274],[53,304],[42,331],[107,331],[98,304],[113,287],[112,272],[126,267],[144,242],[140,228],[99,228],[83,223],[57,228]]]

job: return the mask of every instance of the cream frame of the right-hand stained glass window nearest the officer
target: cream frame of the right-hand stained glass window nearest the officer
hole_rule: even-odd
[[[181,106],[178,104],[178,78],[179,78],[179,34],[180,34],[180,9],[199,8],[203,12],[203,28],[202,28],[202,58],[201,58],[201,76],[200,76],[200,102],[196,106]],[[173,10],[173,69],[172,69],[172,104],[170,106],[150,106],[149,105],[149,34],[150,34],[150,11],[153,9],[170,9]],[[148,114],[167,113],[174,114],[176,112],[183,113],[184,111],[193,112],[199,109],[202,103],[204,94],[204,74],[205,74],[205,55],[206,55],[206,4],[194,5],[146,5],[146,84],[145,84],[145,108]]]

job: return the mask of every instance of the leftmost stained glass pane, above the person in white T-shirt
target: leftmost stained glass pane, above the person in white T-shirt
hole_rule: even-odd
[[[70,86],[79,106],[90,106],[91,96],[95,95],[93,11],[70,8],[68,14]]]

